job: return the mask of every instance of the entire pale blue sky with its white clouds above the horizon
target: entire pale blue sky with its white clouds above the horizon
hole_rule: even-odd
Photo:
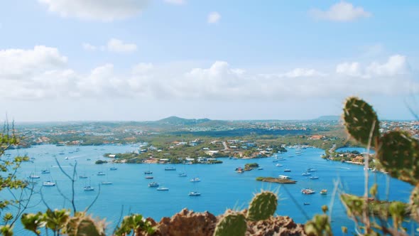
[[[358,95],[413,119],[416,22],[417,1],[2,1],[0,113],[311,119]]]

